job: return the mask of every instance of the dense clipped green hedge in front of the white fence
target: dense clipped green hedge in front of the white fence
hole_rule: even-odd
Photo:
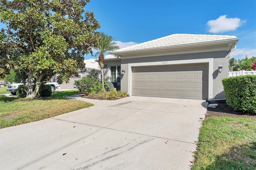
[[[224,78],[222,84],[228,106],[256,115],[256,75]]]

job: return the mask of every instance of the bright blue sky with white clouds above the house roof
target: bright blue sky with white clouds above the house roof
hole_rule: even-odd
[[[256,0],[91,0],[85,10],[121,48],[171,34],[229,35],[240,39],[230,57],[256,56]]]

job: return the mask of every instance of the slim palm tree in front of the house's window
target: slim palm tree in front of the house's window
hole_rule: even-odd
[[[108,36],[104,32],[100,32],[100,42],[96,45],[96,50],[98,51],[95,56],[99,55],[99,65],[101,69],[101,81],[102,81],[102,89],[104,89],[104,75],[103,75],[103,67],[104,67],[104,53],[111,54],[115,49],[119,49],[119,46],[113,42],[114,37]]]

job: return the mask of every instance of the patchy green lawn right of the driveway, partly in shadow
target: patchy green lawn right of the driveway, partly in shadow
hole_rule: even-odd
[[[255,170],[256,119],[208,117],[192,170]]]

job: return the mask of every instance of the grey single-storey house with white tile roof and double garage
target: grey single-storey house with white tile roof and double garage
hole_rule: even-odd
[[[172,34],[132,45],[106,56],[106,77],[129,95],[223,99],[222,79],[228,77],[228,57],[238,40]]]

